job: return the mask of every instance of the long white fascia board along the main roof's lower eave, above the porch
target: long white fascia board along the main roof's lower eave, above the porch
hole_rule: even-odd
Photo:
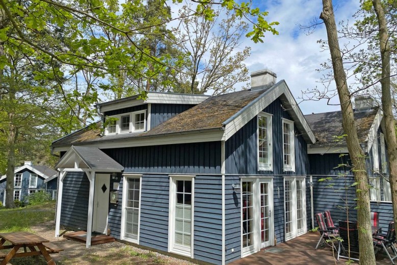
[[[148,137],[124,138],[120,140],[108,140],[104,142],[86,142],[79,146],[97,147],[99,149],[160,146],[165,144],[208,142],[224,140],[223,130],[202,130],[195,133],[172,133],[164,135],[153,135]],[[54,147],[54,152],[69,150],[70,147]]]

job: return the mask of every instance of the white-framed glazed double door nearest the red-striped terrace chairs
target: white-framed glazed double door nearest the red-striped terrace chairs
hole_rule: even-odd
[[[305,178],[284,178],[285,240],[307,232]]]

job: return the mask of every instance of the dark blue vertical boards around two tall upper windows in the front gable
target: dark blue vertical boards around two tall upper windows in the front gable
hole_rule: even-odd
[[[257,164],[257,117],[255,116],[226,141],[226,173],[255,175],[308,175],[309,159],[307,143],[294,125],[295,173],[283,172],[282,118],[292,118],[282,109],[280,99],[275,100],[263,111],[273,115],[273,171],[258,171]]]

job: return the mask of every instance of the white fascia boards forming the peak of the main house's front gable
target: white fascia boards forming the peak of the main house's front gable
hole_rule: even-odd
[[[276,85],[263,92],[263,94],[259,96],[259,100],[257,100],[254,104],[247,105],[239,111],[240,113],[237,112],[234,117],[224,122],[225,140],[229,139],[234,133],[240,130],[244,125],[251,121],[253,117],[255,117],[264,108],[269,106],[273,101],[278,99],[282,94],[285,95],[289,104],[293,107],[292,110],[297,115],[299,120],[298,122],[303,126],[305,132],[302,133],[307,133],[311,142],[315,143],[314,133],[311,131],[309,124],[303,116],[301,109],[295,101],[292,93],[289,91],[289,88],[284,80],[281,80]]]

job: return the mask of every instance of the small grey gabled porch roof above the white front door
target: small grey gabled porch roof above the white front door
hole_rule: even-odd
[[[74,168],[75,163],[83,162],[79,168],[89,168],[96,172],[121,172],[124,166],[113,158],[103,153],[97,147],[75,147],[72,146],[55,166],[56,168]]]

